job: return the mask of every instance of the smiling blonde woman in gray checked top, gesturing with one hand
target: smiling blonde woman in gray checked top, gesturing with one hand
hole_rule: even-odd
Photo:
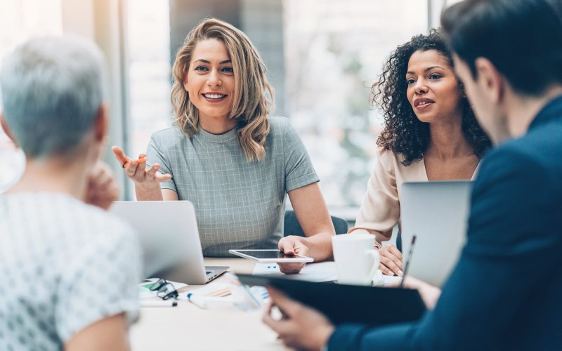
[[[175,126],[154,133],[138,160],[113,148],[137,199],[192,201],[205,256],[279,247],[331,258],[332,247],[320,245],[334,227],[318,176],[289,121],[269,117],[273,88],[248,37],[220,20],[200,22],[173,75]],[[306,238],[282,238],[287,193]]]

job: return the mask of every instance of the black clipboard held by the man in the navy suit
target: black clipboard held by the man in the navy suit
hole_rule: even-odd
[[[237,274],[237,277],[242,284],[273,286],[322,312],[334,325],[414,322],[426,312],[418,291],[412,289],[314,283],[266,275]]]

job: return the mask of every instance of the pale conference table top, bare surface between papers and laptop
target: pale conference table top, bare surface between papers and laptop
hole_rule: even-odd
[[[251,274],[255,262],[244,258],[205,258],[205,265],[226,265],[229,272]],[[226,281],[226,277],[218,277],[213,282]],[[200,287],[189,285],[179,292],[185,296]],[[232,303],[209,303],[207,309],[201,309],[188,300],[178,300],[176,307],[142,307],[138,322],[131,326],[131,349],[288,350],[277,340],[275,332],[261,322],[262,313],[247,312]]]

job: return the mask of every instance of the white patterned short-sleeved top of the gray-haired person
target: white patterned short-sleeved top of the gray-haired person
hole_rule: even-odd
[[[0,195],[0,350],[62,350],[100,319],[138,316],[141,246],[73,197]]]

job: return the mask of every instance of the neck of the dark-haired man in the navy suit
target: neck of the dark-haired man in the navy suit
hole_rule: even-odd
[[[523,97],[515,93],[508,94],[505,114],[507,116],[507,128],[511,137],[518,138],[525,135],[540,110],[549,101],[560,95],[562,95],[561,85],[548,88],[539,97]]]

